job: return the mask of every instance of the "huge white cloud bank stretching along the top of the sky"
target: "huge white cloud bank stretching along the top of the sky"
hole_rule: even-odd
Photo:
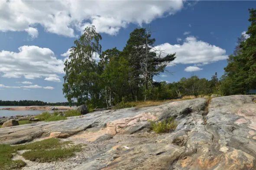
[[[134,5],[136,3],[136,5]],[[31,25],[41,25],[45,31],[75,37],[89,25],[97,31],[116,35],[130,23],[142,25],[156,18],[173,15],[183,8],[175,1],[0,1],[0,31],[26,31],[36,37]],[[107,6],[107,7],[106,7]],[[30,31],[29,31],[30,29]],[[38,33],[38,32],[37,32]]]

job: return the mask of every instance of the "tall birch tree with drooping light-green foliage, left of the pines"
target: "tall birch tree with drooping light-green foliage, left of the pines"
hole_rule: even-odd
[[[99,67],[93,56],[101,53],[99,44],[101,35],[95,27],[87,27],[84,34],[74,41],[75,46],[71,48],[71,54],[65,61],[65,76],[63,94],[71,104],[84,104],[89,99],[94,104],[101,104],[101,89],[98,72]]]

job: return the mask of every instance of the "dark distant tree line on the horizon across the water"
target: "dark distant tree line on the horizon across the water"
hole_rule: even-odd
[[[44,101],[31,101],[31,100],[23,100],[23,101],[2,101],[0,100],[0,106],[68,106],[68,102],[56,102],[56,103],[48,103]]]

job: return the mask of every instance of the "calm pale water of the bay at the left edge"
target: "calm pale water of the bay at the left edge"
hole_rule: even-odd
[[[0,108],[12,108],[12,107],[22,107],[22,106],[0,106]],[[45,111],[53,112],[53,110],[0,110],[0,117],[16,116],[16,115],[27,115],[27,114],[41,114]]]

